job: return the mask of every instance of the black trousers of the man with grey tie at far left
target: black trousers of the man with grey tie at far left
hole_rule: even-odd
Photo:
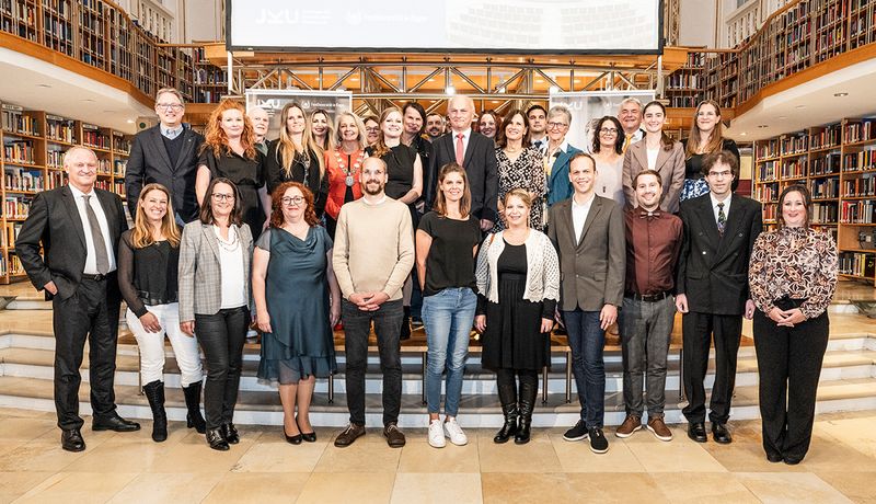
[[[79,367],[85,339],[89,341],[89,380],[94,417],[116,411],[113,380],[116,373],[118,311],[122,296],[115,273],[101,280],[82,279],[67,299],[51,300],[55,330],[55,410],[58,426],[81,428],[79,416]]]

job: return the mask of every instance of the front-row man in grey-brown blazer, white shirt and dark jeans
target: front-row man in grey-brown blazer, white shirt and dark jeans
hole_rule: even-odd
[[[609,449],[602,433],[606,329],[618,319],[623,302],[626,262],[623,210],[593,192],[596,161],[578,152],[569,162],[575,193],[550,209],[548,236],[560,255],[560,310],[568,332],[573,371],[581,414],[566,431],[566,440],[589,438],[590,450]]]

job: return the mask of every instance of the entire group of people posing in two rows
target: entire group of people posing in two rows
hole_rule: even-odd
[[[123,298],[155,442],[168,436],[165,334],[187,425],[214,449],[240,440],[233,415],[251,323],[263,333],[257,376],[278,385],[286,440],[314,442],[315,378],[337,370],[333,328],[343,322],[350,417],[334,444],[366,432],[373,324],[383,435],[404,446],[400,342],[419,293],[434,447],[468,443],[457,416],[473,327],[483,334],[484,367],[496,371],[504,424],[494,440],[529,442],[555,323],[567,333],[580,402],[564,438],[609,449],[602,354],[616,322],[626,417],[614,434],[645,427],[670,440],[665,382],[678,310],[689,437],[707,440],[708,411],[714,440],[731,442],[741,322],[753,317],[764,449],[771,461],[799,462],[837,282],[835,244],[809,228],[807,188],[786,187],[779,228],[762,233],[760,204],[734,193],[739,154],[712,101],[696,107],[682,144],[662,130],[661,103],[627,99],[616,116],[596,122],[584,150],[566,138],[564,106],[487,111],[479,126],[495,131],[489,138],[473,129],[470,98],[447,105],[450,131],[439,134],[443,117],[415,102],[379,118],[342,112],[334,122],[289,103],[278,138],[267,141],[266,111],[226,100],[201,136],[182,124],[182,95],[162,89],[160,124],[135,137],[128,161],[130,230],[120,198],[94,187],[94,153],[71,148],[69,183],[34,198],[16,242],[34,286],[53,299],[62,447],[85,446],[77,398],[85,339],[93,428],[139,428],[115,412],[113,396]]]

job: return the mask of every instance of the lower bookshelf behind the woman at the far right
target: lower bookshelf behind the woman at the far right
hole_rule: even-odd
[[[837,239],[840,275],[876,284],[876,117],[756,141],[753,175],[764,225],[775,225],[782,190],[805,184],[812,225]]]

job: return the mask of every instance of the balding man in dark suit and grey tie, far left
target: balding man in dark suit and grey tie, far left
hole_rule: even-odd
[[[61,447],[82,451],[79,366],[89,339],[93,431],[137,431],[116,413],[113,378],[122,296],[116,252],[128,228],[122,198],[94,188],[97,157],[73,147],[64,157],[69,183],[37,194],[15,242],[24,271],[51,300],[55,331],[55,409]],[[45,256],[39,255],[43,245]]]

